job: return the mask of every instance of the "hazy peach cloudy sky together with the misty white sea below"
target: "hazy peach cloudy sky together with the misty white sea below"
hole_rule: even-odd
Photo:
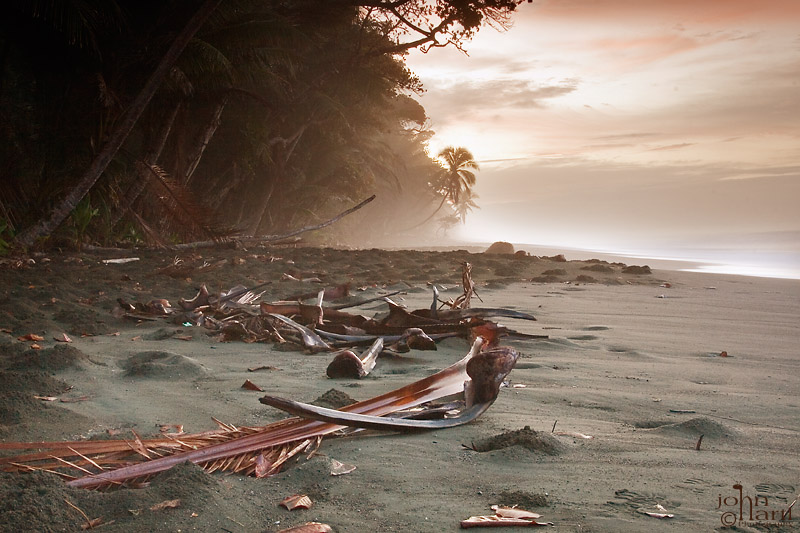
[[[453,237],[800,278],[800,0],[535,0],[465,48],[407,58],[481,165]]]

